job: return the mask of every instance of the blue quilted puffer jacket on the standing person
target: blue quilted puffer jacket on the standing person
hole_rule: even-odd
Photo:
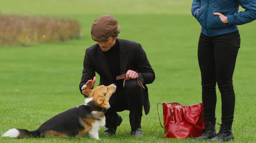
[[[238,12],[239,6],[245,11]],[[198,13],[197,9],[200,9]],[[193,0],[191,12],[201,24],[204,35],[217,36],[237,31],[237,25],[254,21],[256,0]],[[228,23],[224,24],[214,12],[227,16]]]

